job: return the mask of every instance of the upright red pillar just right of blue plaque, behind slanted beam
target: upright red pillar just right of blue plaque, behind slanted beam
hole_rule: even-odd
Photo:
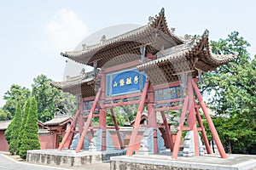
[[[153,127],[154,135],[154,154],[158,153],[158,144],[157,144],[157,117],[154,111],[154,88],[150,83],[148,87],[148,125]]]

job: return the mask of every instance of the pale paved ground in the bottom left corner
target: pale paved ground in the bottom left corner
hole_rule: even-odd
[[[74,170],[82,170],[82,169],[88,169],[88,170],[109,170],[110,164],[109,163],[99,163],[99,164],[93,164],[93,165],[86,165],[83,167],[56,167],[56,166],[44,166],[44,165],[38,165],[38,164],[31,164],[27,163],[26,161],[17,161],[15,159],[15,156],[9,156],[7,153],[0,153],[0,170],[13,170],[13,169],[19,169],[19,170],[68,170],[68,169],[74,169]]]

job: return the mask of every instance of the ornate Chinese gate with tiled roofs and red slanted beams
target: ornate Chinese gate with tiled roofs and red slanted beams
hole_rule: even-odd
[[[199,141],[198,132],[201,132],[207,153],[211,154],[199,112],[201,107],[220,156],[225,158],[223,145],[196,82],[199,81],[201,72],[215,70],[219,65],[234,59],[234,56],[212,54],[208,46],[208,31],[205,31],[201,37],[175,36],[166,26],[164,9],[162,9],[160,14],[154,20],[150,20],[146,26],[109,40],[103,38],[101,43],[92,47],[86,46],[86,49],[81,51],[61,54],[81,64],[94,66],[94,74],[88,76],[89,73],[86,73],[87,75],[84,74],[83,77],[73,81],[52,83],[63,91],[81,95],[79,110],[58,150],[62,150],[66,142],[71,144],[68,136],[70,133],[72,135],[75,133],[76,124],[79,122],[81,138],[76,148],[76,152],[79,152],[83,147],[86,133],[89,130],[94,133],[90,126],[94,116],[99,116],[102,150],[106,150],[107,110],[111,111],[120,148],[124,149],[113,107],[138,104],[126,153],[128,156],[132,155],[136,144],[144,106],[148,107],[148,127],[154,129],[152,134],[154,153],[159,152],[156,112],[160,111],[172,158],[177,158],[184,130],[194,133],[195,156],[200,155],[199,145],[196,142]],[[181,111],[175,143],[166,121],[166,111],[172,110]],[[84,120],[86,120],[85,124]],[[187,122],[186,126],[184,126],[185,122]],[[196,127],[196,122],[199,127]]]

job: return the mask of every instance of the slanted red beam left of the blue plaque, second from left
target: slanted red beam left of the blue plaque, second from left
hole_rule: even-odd
[[[95,108],[96,108],[96,105],[97,105],[97,102],[98,102],[98,99],[100,97],[100,95],[102,94],[102,88],[99,88],[99,91],[97,92],[96,94],[96,98],[93,102],[93,105],[91,107],[91,111],[89,113],[89,116],[86,120],[86,123],[85,123],[85,126],[84,126],[84,130],[83,132],[81,133],[81,136],[80,136],[80,139],[79,139],[79,144],[77,146],[77,149],[76,149],[76,152],[78,153],[81,149],[82,149],[82,146],[84,144],[84,137],[86,136],[86,133],[88,131],[88,128],[90,127],[90,123],[91,123],[91,119],[92,119],[92,115],[95,111]]]

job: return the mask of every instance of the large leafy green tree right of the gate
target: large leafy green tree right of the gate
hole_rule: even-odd
[[[231,32],[226,39],[211,42],[215,54],[236,54],[237,58],[217,71],[204,75],[202,91],[215,94],[210,103],[224,147],[230,153],[251,153],[256,143],[256,59],[251,61],[250,44]],[[255,149],[254,149],[255,151]]]

